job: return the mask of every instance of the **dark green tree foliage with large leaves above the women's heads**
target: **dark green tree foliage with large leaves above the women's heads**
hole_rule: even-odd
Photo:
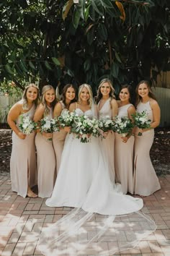
[[[169,0],[1,0],[0,80],[54,87],[156,80],[169,64]]]

